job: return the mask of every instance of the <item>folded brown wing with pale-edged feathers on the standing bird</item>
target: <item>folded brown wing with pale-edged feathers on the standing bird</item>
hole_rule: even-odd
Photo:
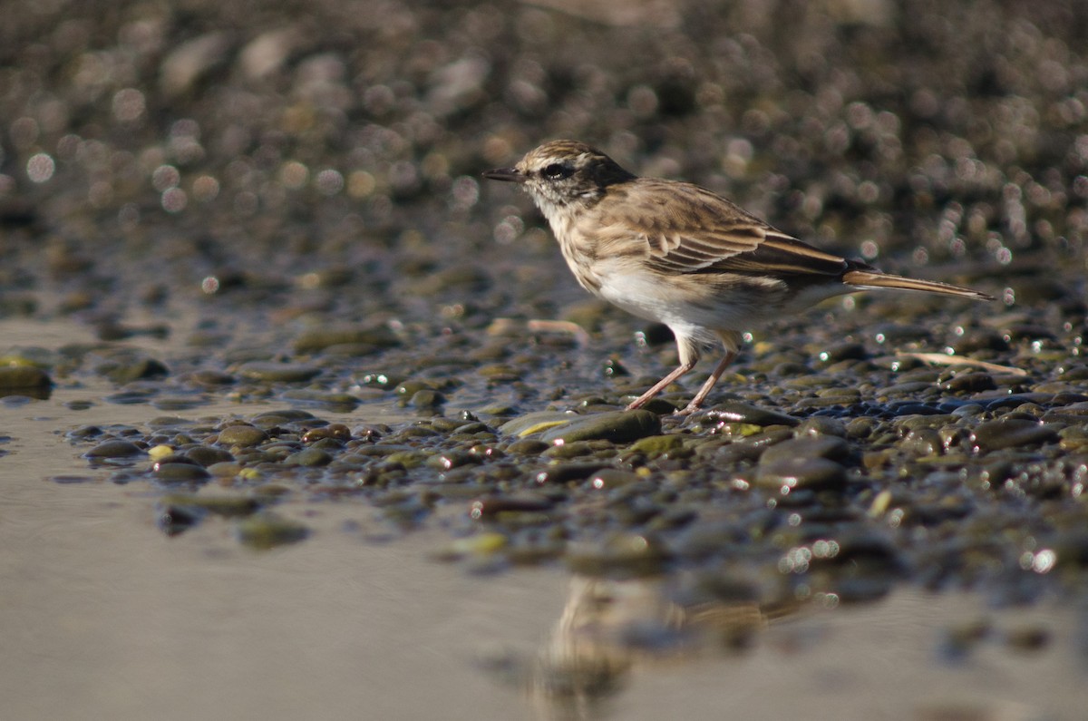
[[[850,267],[845,258],[775,230],[697,185],[635,183],[601,220],[617,236],[626,234],[625,244],[635,230],[638,242],[628,245],[629,252],[642,254],[662,272],[841,276]]]

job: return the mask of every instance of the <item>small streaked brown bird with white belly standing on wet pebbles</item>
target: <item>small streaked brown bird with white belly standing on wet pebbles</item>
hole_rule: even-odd
[[[725,357],[679,413],[695,411],[737,356],[742,330],[834,295],[893,289],[993,300],[824,253],[704,187],[639,178],[574,140],[545,143],[484,176],[529,192],[582,288],[672,330],[680,365],[628,410],[691,370],[703,346],[720,342]]]

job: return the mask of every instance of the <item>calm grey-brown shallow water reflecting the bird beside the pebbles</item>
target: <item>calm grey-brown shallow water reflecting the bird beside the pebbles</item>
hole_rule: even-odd
[[[14,345],[84,332],[0,326]],[[1085,609],[1054,601],[997,610],[905,587],[868,604],[741,609],[755,632],[734,647],[715,638],[720,625],[675,622],[658,595],[668,579],[469,573],[431,560],[448,540],[441,523],[394,536],[357,500],[288,499],[279,512],[312,533],[271,552],[240,546],[218,518],[171,538],[154,524],[159,492],[109,482],[62,436],[159,415],[64,405],[101,390],[0,406],[5,718],[657,719],[683,708],[691,719],[1072,720],[1088,701]],[[683,635],[657,643],[678,625]]]

